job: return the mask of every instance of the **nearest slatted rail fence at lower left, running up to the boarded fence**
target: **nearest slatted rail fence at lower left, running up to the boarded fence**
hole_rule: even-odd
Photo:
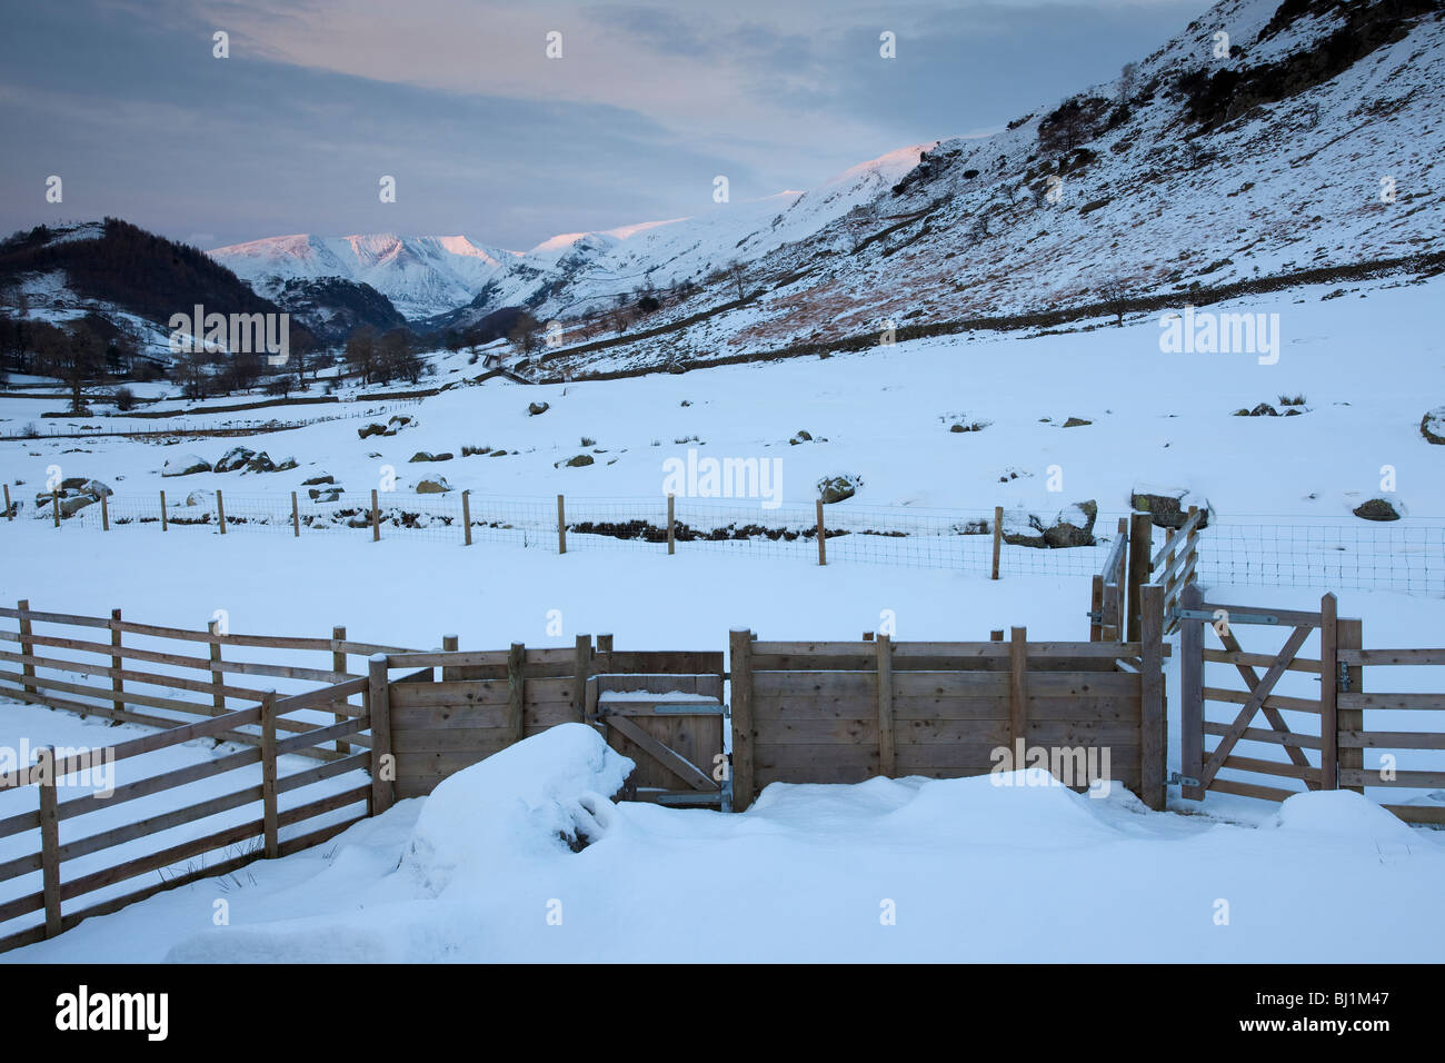
[[[316,748],[322,742],[334,742],[342,738],[353,742],[360,740],[360,732],[370,727],[367,710],[350,706],[342,710],[341,707],[345,706],[348,697],[361,694],[366,686],[366,680],[348,680],[280,700],[275,694],[266,694],[260,704],[249,709],[228,710],[202,722],[171,726],[130,742],[104,749],[85,751],[59,761],[55,756],[55,751],[46,748],[40,751],[33,765],[0,775],[0,790],[33,787],[36,793],[35,811],[0,819],[0,837],[10,837],[36,829],[39,829],[40,834],[40,848],[38,852],[12,858],[0,863],[0,882],[36,871],[42,876],[39,892],[26,894],[0,904],[0,923],[35,911],[45,913],[43,923],[0,939],[0,952],[53,937],[91,915],[104,915],[117,911],[162,889],[233,872],[262,856],[286,856],[292,852],[321,845],[363,819],[370,810],[371,784],[340,790],[319,800],[286,810],[279,807],[279,798],[280,794],[322,780],[340,777],[351,771],[370,771],[371,754],[368,751],[331,758],[315,768],[289,775],[279,774],[279,758],[286,754],[321,752]],[[279,736],[277,732],[285,730],[286,723],[293,723],[286,719],[288,714],[316,707],[340,712],[344,719],[331,726],[311,727],[309,730],[286,738]],[[68,775],[94,771],[100,764],[114,764],[155,754],[198,738],[234,740],[240,733],[238,729],[246,726],[256,726],[259,729],[259,735],[256,735],[257,748],[243,749],[214,761],[137,778],[116,787],[108,794],[92,793],[65,801],[59,800],[59,793],[65,787],[64,780]],[[262,765],[259,784],[241,787],[221,797],[212,797],[160,814],[152,814],[146,819],[123,823],[85,837],[65,843],[61,842],[59,824],[65,820],[111,810],[127,801],[186,787],[214,775],[247,768],[253,764]],[[329,823],[308,833],[288,837],[285,842],[280,839],[280,832],[288,827],[357,804],[367,804],[368,807],[340,823]],[[223,830],[171,845],[143,856],[131,856],[120,863],[98,871],[87,871],[74,878],[65,875],[66,862],[247,806],[256,806],[259,819],[247,819]],[[247,848],[247,843],[254,845]],[[207,855],[217,852],[221,853],[221,861],[214,863],[204,862]],[[142,875],[160,875],[166,868],[192,859],[202,859],[201,866],[192,868],[188,865],[185,872],[160,878],[120,897],[108,897],[78,910],[65,910],[66,902],[78,901],[97,891],[108,889]]]

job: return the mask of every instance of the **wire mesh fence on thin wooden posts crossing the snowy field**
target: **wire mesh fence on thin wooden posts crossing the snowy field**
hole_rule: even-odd
[[[68,502],[62,502],[62,513]],[[16,519],[53,521],[48,500],[14,499]],[[470,492],[415,495],[341,493],[321,484],[289,493],[231,495],[215,490],[168,493],[166,528],[227,534],[348,534],[491,542],[559,552],[668,550],[668,499],[493,496]],[[1023,511],[1006,511],[998,547],[1000,576],[1092,576],[1113,545],[1117,519],[1100,512],[1087,545],[1046,548]],[[159,493],[110,495],[81,505],[64,526],[98,531],[159,528]],[[559,528],[561,522],[561,528]],[[988,576],[994,551],[993,509],[863,508],[824,509],[828,564],[877,564]],[[1020,534],[1022,529],[1022,534]],[[559,531],[562,534],[559,534]],[[1155,529],[1155,548],[1165,529]],[[1027,545],[1026,545],[1027,544]],[[741,557],[819,561],[814,506],[678,498],[672,511],[672,550]],[[1357,518],[1214,518],[1199,538],[1198,579],[1204,584],[1296,586],[1325,590],[1396,590],[1445,596],[1445,521],[1409,518],[1364,522]]]

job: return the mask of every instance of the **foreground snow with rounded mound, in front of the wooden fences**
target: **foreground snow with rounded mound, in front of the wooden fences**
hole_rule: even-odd
[[[614,806],[627,768],[561,725],[228,894],[182,887],[4,959],[1422,962],[1445,944],[1445,836],[1345,791],[1244,826],[1017,772],[773,785],[725,816]]]

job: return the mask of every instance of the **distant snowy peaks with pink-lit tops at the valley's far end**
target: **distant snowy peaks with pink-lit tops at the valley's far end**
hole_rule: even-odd
[[[324,237],[306,233],[210,252],[257,292],[276,296],[289,281],[341,278],[386,295],[405,317],[441,314],[468,302],[516,252],[465,236]]]

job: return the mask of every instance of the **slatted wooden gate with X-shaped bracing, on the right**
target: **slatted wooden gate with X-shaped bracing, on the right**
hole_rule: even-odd
[[[1263,785],[1220,778],[1221,769],[1293,780],[1305,790],[1335,790],[1340,784],[1335,690],[1338,651],[1358,648],[1360,620],[1335,616],[1335,596],[1325,594],[1318,613],[1273,607],[1230,606],[1205,602],[1198,586],[1188,584],[1173,609],[1179,623],[1181,686],[1181,795],[1199,801],[1209,790],[1241,797],[1283,801],[1300,788]],[[1246,649],[1237,632],[1247,632],[1259,648]],[[1311,635],[1319,632],[1319,658],[1300,655]],[[1270,639],[1267,632],[1283,635]],[[1215,642],[1218,648],[1207,646]],[[1266,649],[1267,652],[1260,652]],[[1244,690],[1207,683],[1208,665],[1233,668]],[[1260,671],[1263,670],[1263,671]],[[1276,693],[1290,673],[1319,677],[1314,697]],[[1209,704],[1218,706],[1211,719]],[[1283,713],[1296,716],[1293,727]],[[1267,726],[1257,726],[1256,717]],[[1302,717],[1302,719],[1300,719]],[[1205,742],[1217,739],[1212,748]],[[1247,756],[1238,742],[1259,742],[1283,751],[1285,759]]]

